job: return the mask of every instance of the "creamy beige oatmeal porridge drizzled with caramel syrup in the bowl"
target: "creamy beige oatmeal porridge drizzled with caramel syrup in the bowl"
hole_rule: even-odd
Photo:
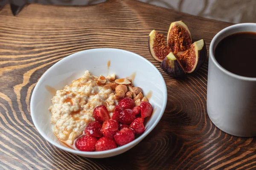
[[[105,105],[112,116],[117,101],[113,90],[104,86],[106,81],[109,80],[85,71],[71,85],[56,92],[49,111],[52,113],[53,132],[58,139],[72,145],[87,124],[95,121],[93,109],[96,106]]]

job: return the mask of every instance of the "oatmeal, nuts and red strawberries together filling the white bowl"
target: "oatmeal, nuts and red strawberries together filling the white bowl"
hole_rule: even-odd
[[[102,151],[127,144],[145,131],[152,106],[132,79],[85,71],[52,97],[55,136],[73,149]]]

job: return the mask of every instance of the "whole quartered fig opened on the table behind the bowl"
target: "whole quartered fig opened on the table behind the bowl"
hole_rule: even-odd
[[[189,28],[182,21],[171,23],[167,45],[163,34],[152,30],[148,35],[148,48],[160,67],[171,77],[184,77],[198,71],[207,57],[204,40],[192,43]]]

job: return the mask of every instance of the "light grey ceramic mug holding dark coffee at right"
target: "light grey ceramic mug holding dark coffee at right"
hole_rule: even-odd
[[[212,122],[222,131],[239,137],[253,137],[256,136],[256,77],[233,74],[223,68],[214,56],[217,44],[237,32],[256,32],[256,23],[224,28],[210,43],[207,112]],[[241,57],[246,59],[246,56]]]

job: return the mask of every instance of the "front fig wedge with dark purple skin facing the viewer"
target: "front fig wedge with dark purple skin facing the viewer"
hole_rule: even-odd
[[[165,59],[163,59],[163,62],[160,64],[160,68],[163,69],[164,72],[166,72],[171,77],[184,77],[186,76],[186,73],[184,69],[182,68],[179,60],[177,60],[175,54],[170,52]]]

